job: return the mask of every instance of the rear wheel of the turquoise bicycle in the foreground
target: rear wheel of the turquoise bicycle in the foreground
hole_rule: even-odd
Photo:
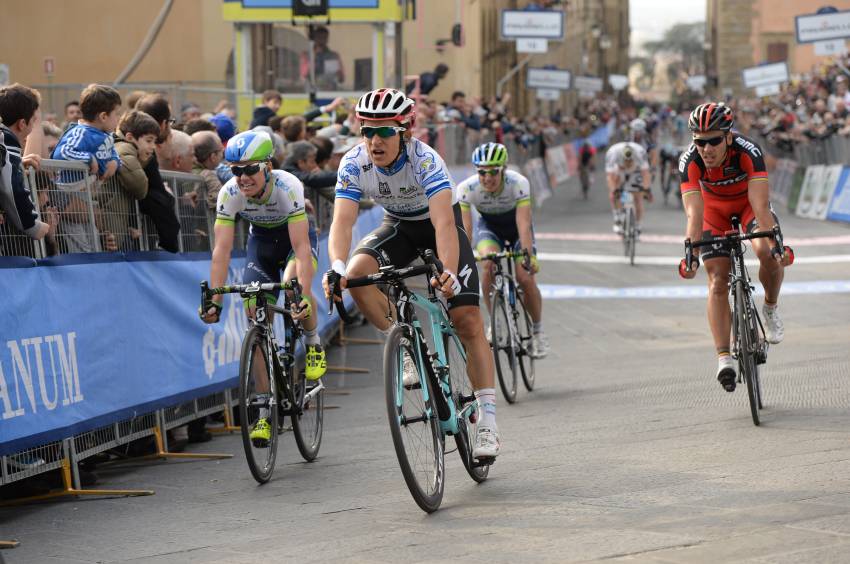
[[[478,425],[475,423],[478,420],[478,414],[475,411],[475,392],[472,390],[466,372],[466,352],[457,335],[443,335],[443,344],[446,349],[446,359],[449,362],[452,400],[458,411],[460,432],[455,435],[457,452],[469,477],[480,484],[487,479],[490,465],[476,466],[472,458],[472,447],[478,430]]]

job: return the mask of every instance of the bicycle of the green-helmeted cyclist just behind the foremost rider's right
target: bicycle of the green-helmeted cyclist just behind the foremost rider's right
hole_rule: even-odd
[[[479,257],[480,261],[492,261],[496,267],[490,289],[490,348],[499,387],[508,403],[516,401],[517,372],[522,375],[525,388],[534,389],[534,354],[532,341],[534,324],[525,307],[522,288],[514,277],[514,261],[521,259],[528,266],[528,250],[522,252],[505,250]],[[507,261],[507,268],[503,262]],[[519,368],[519,370],[517,370]]]

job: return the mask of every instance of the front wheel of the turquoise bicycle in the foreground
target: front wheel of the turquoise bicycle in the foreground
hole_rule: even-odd
[[[416,365],[416,353],[407,329],[396,326],[384,346],[384,387],[390,434],[398,465],[416,504],[433,513],[443,500],[445,464],[443,434],[427,374],[419,374],[420,384],[405,387],[404,364]],[[423,387],[424,386],[424,387]],[[439,393],[439,392],[437,392]]]

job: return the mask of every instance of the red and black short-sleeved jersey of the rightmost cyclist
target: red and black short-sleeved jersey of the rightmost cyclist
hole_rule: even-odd
[[[707,200],[735,200],[747,196],[749,181],[767,179],[764,153],[755,141],[733,134],[723,166],[708,168],[691,144],[679,159],[682,194],[702,190]]]

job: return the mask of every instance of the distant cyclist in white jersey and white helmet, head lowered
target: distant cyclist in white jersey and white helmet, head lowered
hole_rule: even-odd
[[[623,206],[615,192],[619,188],[634,191],[636,188],[647,190],[644,197],[652,201],[652,193],[649,192],[651,176],[649,173],[649,161],[646,151],[637,143],[623,141],[611,146],[605,153],[605,175],[608,178],[608,197],[611,202],[611,211],[614,214],[614,233],[623,232]],[[640,177],[640,178],[638,178]],[[643,198],[635,198],[635,214],[637,216],[638,233],[641,229],[643,219]]]

